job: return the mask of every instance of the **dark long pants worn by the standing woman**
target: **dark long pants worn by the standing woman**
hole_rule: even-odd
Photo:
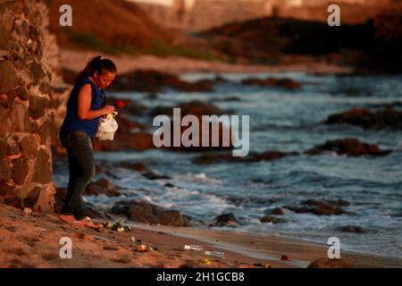
[[[92,141],[87,133],[80,130],[62,129],[59,138],[67,150],[70,172],[62,214],[72,214],[75,219],[80,220],[86,214],[85,203],[82,199],[84,190],[95,176]]]

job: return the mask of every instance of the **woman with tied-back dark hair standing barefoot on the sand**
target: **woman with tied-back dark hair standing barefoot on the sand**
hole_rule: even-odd
[[[94,226],[85,216],[83,193],[95,176],[92,139],[100,116],[114,112],[113,105],[105,105],[104,88],[114,80],[116,66],[101,56],[93,58],[77,76],[67,102],[67,112],[59,138],[67,150],[69,163],[68,193],[59,218],[68,223]]]

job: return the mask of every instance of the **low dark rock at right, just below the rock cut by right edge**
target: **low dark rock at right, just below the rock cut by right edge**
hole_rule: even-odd
[[[332,151],[339,155],[347,156],[385,156],[390,153],[388,150],[381,150],[374,144],[362,143],[358,139],[337,139],[327,141],[322,145],[307,150],[305,153],[308,155],[317,155],[325,151]]]

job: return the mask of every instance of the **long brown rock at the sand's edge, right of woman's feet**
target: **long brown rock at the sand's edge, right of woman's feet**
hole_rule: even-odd
[[[172,226],[189,226],[189,220],[176,210],[168,210],[143,201],[121,201],[114,204],[112,214],[124,214],[130,221],[159,223]]]

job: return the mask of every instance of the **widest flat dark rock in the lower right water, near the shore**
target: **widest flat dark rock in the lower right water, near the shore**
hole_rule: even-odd
[[[301,203],[302,206],[284,206],[289,210],[297,214],[316,214],[316,215],[339,215],[339,214],[354,214],[352,212],[345,211],[338,204],[339,202],[333,201],[334,205],[331,205],[330,201],[316,201],[306,200]]]

